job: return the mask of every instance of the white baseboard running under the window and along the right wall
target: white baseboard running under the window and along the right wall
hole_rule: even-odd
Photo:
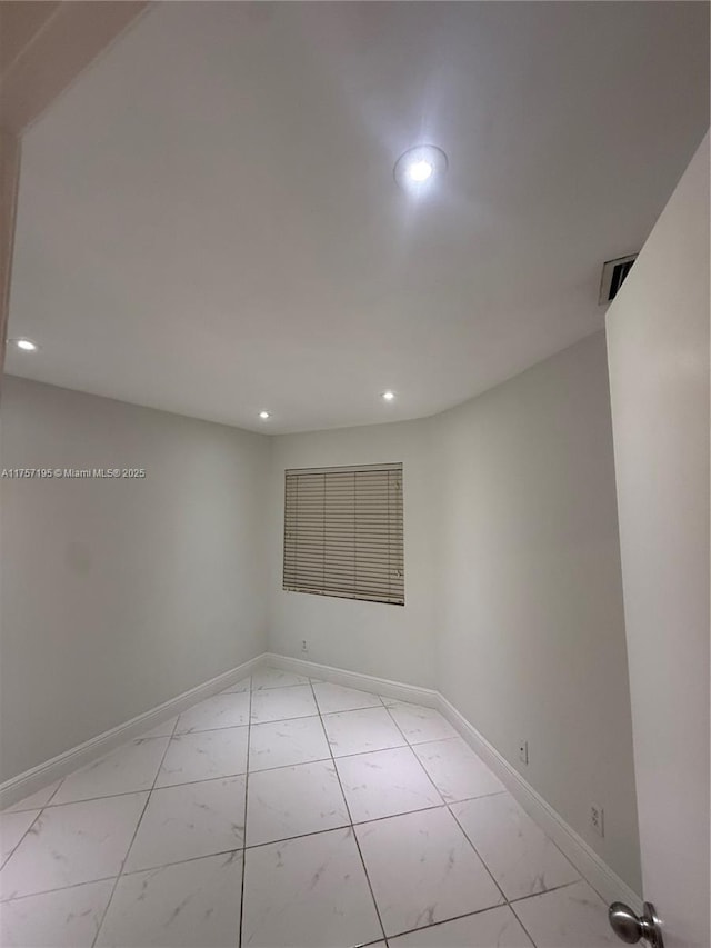
[[[511,796],[523,807],[529,816],[541,827],[570,859],[580,875],[590,882],[593,889],[605,902],[625,901],[638,914],[642,912],[642,899],[614,872],[608,864],[569,826],[565,820],[538,794],[530,784],[513,768],[509,761],[471,725],[457,708],[439,691],[431,688],[420,688],[415,685],[404,685],[377,678],[372,675],[361,675],[357,671],[344,671],[328,665],[317,665],[300,658],[267,653],[264,662],[274,668],[306,675],[311,678],[322,678],[336,685],[348,688],[360,688],[395,698],[400,701],[411,701],[440,710],[449,722],[460,732],[467,744],[499,777]]]

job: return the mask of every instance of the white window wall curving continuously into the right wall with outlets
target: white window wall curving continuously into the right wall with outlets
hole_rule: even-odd
[[[284,469],[377,461],[404,466],[404,609],[284,592]],[[639,891],[604,333],[433,418],[277,437],[271,480],[270,649],[437,688]]]

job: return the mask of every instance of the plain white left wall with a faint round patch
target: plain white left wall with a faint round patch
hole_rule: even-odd
[[[264,650],[269,439],[6,377],[0,765],[8,779]]]

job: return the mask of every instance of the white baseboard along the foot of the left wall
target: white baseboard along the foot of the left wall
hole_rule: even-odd
[[[218,675],[216,678],[211,678],[209,681],[204,681],[189,691],[183,691],[182,695],[164,701],[157,708],[151,708],[150,711],[144,711],[142,715],[131,718],[126,724],[118,725],[116,728],[111,728],[111,730],[97,735],[97,737],[92,737],[83,744],[72,747],[63,754],[59,754],[57,757],[52,757],[51,760],[46,760],[44,764],[40,764],[38,767],[32,767],[31,770],[26,770],[23,774],[6,780],[4,784],[0,785],[0,809],[17,804],[19,800],[24,799],[24,797],[29,797],[30,794],[34,794],[37,790],[41,790],[49,784],[54,782],[54,780],[59,780],[60,777],[66,777],[72,770],[77,770],[77,768],[83,767],[84,764],[90,764],[92,760],[102,757],[120,744],[133,737],[140,737],[147,730],[156,727],[156,725],[160,725],[168,718],[172,718],[174,715],[179,715],[197,701],[209,698],[211,695],[217,695],[218,691],[222,691],[224,688],[229,688],[230,685],[233,685],[247,675],[251,675],[263,661],[263,655],[257,656],[257,658],[252,658],[237,668],[224,671],[222,675]]]

